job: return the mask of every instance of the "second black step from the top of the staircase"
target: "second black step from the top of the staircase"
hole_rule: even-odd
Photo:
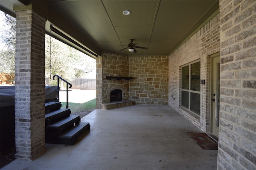
[[[56,121],[60,121],[70,115],[70,109],[59,109],[57,111],[53,111],[51,113],[45,114],[45,125],[48,126],[51,123],[55,123]]]

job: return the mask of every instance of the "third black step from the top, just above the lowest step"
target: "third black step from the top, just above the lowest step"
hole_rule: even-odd
[[[46,127],[46,132],[45,132],[46,143],[58,143],[59,135],[65,132],[68,128],[74,127],[79,122],[80,122],[80,116],[70,115],[65,119],[62,119],[56,123],[48,125]]]

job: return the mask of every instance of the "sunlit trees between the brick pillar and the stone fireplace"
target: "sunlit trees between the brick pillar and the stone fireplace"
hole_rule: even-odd
[[[86,72],[91,72],[96,67],[95,59],[48,35],[45,49],[45,75],[49,79],[48,85],[56,85],[51,79],[55,74],[72,81],[73,78],[83,77]]]

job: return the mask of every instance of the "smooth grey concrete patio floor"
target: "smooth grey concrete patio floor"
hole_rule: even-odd
[[[218,150],[203,150],[186,132],[202,132],[168,105],[96,109],[82,118],[75,145],[46,144],[33,161],[1,170],[216,170]]]

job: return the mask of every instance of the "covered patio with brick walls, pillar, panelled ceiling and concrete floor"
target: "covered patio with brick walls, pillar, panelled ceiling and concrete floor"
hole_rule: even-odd
[[[17,20],[15,157],[33,160],[4,169],[256,169],[255,0],[0,6]],[[74,146],[45,144],[45,34],[53,27],[96,59],[97,110]],[[111,89],[136,106],[101,110]],[[186,135],[193,130],[218,137],[217,167],[217,151],[196,146]]]

